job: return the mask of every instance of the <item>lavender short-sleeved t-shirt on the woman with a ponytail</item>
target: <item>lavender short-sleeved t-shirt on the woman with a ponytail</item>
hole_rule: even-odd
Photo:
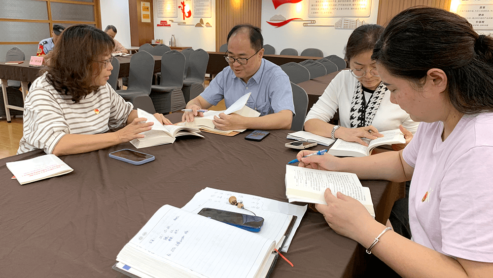
[[[442,122],[420,123],[404,160],[413,166],[413,240],[443,254],[493,262],[493,113],[464,116],[442,141]]]

